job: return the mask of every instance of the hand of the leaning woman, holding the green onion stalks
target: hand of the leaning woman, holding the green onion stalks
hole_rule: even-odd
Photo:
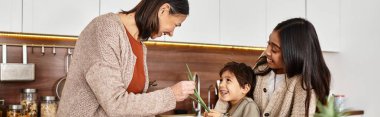
[[[173,92],[176,101],[183,101],[189,95],[194,94],[195,82],[194,81],[181,81],[170,87]]]

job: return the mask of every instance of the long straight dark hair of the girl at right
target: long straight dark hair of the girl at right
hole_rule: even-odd
[[[309,114],[311,90],[323,104],[330,93],[330,71],[324,61],[313,24],[302,18],[279,23],[274,31],[280,35],[285,71],[289,77],[300,74],[306,90],[305,113]]]

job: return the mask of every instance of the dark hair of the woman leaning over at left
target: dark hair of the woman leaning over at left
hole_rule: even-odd
[[[135,20],[139,30],[138,36],[142,41],[147,41],[152,34],[158,33],[160,24],[157,13],[165,3],[170,5],[170,14],[189,15],[189,2],[187,0],[141,0],[135,8],[129,11],[121,11],[120,13],[136,12]]]

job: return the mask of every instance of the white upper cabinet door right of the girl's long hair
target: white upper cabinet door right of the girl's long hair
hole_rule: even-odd
[[[340,0],[308,0],[307,19],[313,23],[323,51],[339,51]]]

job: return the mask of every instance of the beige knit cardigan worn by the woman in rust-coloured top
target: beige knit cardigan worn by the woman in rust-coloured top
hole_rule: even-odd
[[[144,46],[146,83],[148,69]],[[91,21],[75,46],[58,117],[153,116],[176,106],[171,88],[150,93],[126,91],[136,56],[117,14],[108,13]]]

